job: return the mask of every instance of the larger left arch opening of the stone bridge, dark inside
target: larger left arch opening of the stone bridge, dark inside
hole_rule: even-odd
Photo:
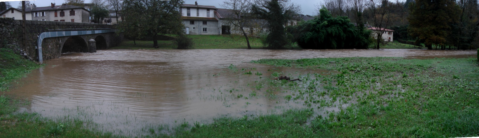
[[[87,53],[88,52],[88,45],[81,38],[80,36],[72,36],[68,38],[65,43],[63,43],[63,47],[61,53],[69,53],[69,52],[81,52]]]

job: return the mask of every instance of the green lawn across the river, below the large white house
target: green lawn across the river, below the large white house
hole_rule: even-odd
[[[247,49],[246,39],[238,35],[187,35],[193,39],[193,49]],[[233,38],[231,38],[233,37]],[[119,46],[110,49],[155,49],[153,41],[125,40]],[[263,45],[258,38],[250,38],[251,49],[263,49]],[[176,49],[173,41],[158,41],[159,49]],[[301,49],[293,46],[292,49]]]

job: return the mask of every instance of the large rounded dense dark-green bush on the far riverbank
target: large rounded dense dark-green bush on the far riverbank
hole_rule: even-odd
[[[355,27],[348,17],[332,17],[325,7],[319,18],[297,26],[297,43],[304,49],[365,49],[369,45],[370,30]]]

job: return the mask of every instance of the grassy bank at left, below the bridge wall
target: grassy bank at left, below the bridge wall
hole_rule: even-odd
[[[0,138],[112,137],[109,134],[85,129],[84,127],[91,122],[69,117],[52,120],[26,112],[24,109],[29,106],[27,100],[4,94],[10,83],[41,66],[12,53],[10,49],[0,48]]]

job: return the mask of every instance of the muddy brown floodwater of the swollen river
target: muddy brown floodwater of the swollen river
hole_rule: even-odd
[[[47,60],[14,85],[29,110],[45,117],[73,117],[118,134],[137,135],[159,124],[208,123],[213,117],[261,115],[300,108],[283,92],[255,90],[260,76],[227,67],[256,68],[262,77],[276,70],[298,74],[332,72],[251,64],[249,61],[318,57],[468,57],[475,51],[439,50],[99,50]],[[252,92],[256,95],[251,95]],[[279,98],[272,98],[277,96]]]

